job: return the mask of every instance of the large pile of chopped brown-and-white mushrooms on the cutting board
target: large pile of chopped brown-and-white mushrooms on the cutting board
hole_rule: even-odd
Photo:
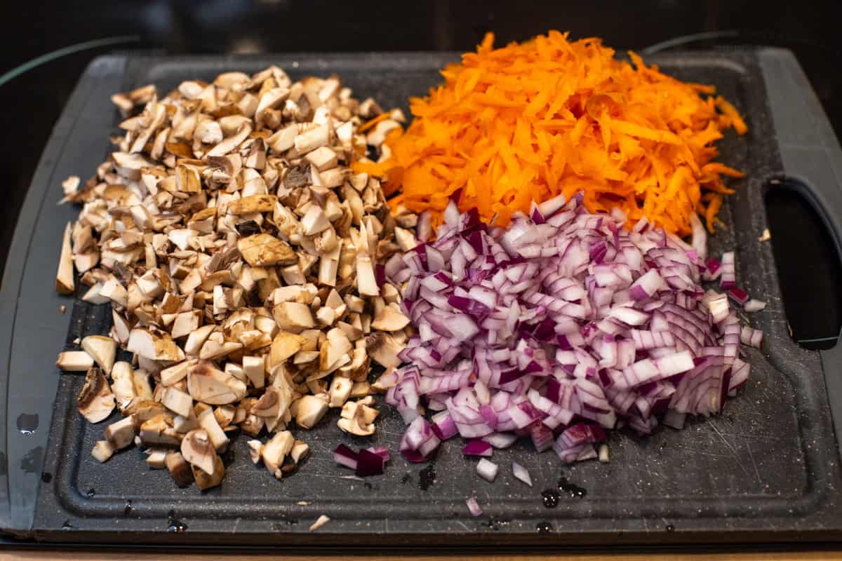
[[[279,479],[308,453],[293,420],[309,429],[341,408],[339,428],[372,434],[370,361],[396,367],[412,329],[378,263],[417,220],[393,217],[380,183],[349,169],[382,143],[361,129],[380,108],[336,77],[292,82],[274,66],[113,100],[116,151],[87,183],[62,183],[83,209],[56,276],[73,294],[75,266],[83,300],[113,309],[109,336],[57,363],[87,372],[88,421],[124,415],[93,457],[138,444],[150,468],[205,490],[233,431]],[[118,345],[131,363],[115,362]]]

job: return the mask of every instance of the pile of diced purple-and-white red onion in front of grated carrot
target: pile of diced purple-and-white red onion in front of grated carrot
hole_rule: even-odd
[[[762,332],[730,307],[729,296],[749,301],[733,253],[705,261],[704,239],[690,246],[645,219],[628,231],[620,211],[565,203],[536,205],[506,230],[450,204],[435,241],[386,263],[418,330],[406,364],[379,382],[408,424],[409,461],[456,434],[476,456],[528,436],[566,463],[597,458],[603,428],[681,428],[745,384],[739,345],[759,347]],[[702,274],[728,292],[706,292]]]

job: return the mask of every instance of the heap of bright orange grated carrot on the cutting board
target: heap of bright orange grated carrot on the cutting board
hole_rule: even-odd
[[[685,236],[698,213],[713,231],[733,193],[722,176],[743,175],[712,161],[713,143],[729,126],[747,130],[714,87],[679,82],[631,52],[633,64],[617,61],[599,39],[550,31],[499,49],[493,40],[410,100],[413,123],[387,137],[391,156],[354,164],[385,177],[386,194],[400,191],[392,209],[429,209],[435,226],[452,195],[504,226],[532,201],[581,191],[590,212],[620,208],[630,225],[645,215]]]

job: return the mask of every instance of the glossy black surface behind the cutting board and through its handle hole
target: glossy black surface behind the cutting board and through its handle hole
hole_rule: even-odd
[[[0,77],[0,267],[40,152],[84,67],[114,50],[232,53],[362,50],[472,50],[493,30],[497,43],[547,29],[642,54],[664,49],[775,45],[793,50],[836,134],[842,131],[842,8],[839,2],[643,0],[594,2],[361,3],[322,0],[105,0],[8,2],[0,34],[0,73],[36,57],[30,69]],[[115,36],[119,44],[55,53]],[[77,46],[82,49],[84,45]],[[17,72],[16,72],[17,73]],[[186,78],[186,77],[185,77]],[[84,179],[84,177],[83,177]],[[59,186],[56,185],[56,193]],[[57,197],[57,195],[56,195]],[[786,193],[769,200],[775,257],[797,340],[829,347],[842,323],[839,262],[807,204]],[[783,263],[799,262],[797,272]]]

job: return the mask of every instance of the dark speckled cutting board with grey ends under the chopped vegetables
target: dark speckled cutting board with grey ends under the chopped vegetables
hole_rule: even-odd
[[[463,458],[458,442],[441,447],[432,468],[397,455],[380,477],[344,479],[349,471],[338,468],[330,454],[339,442],[397,449],[402,421],[385,405],[370,439],[340,433],[335,411],[316,430],[298,431],[311,444],[312,458],[281,482],[248,460],[245,437],[226,455],[224,483],[205,493],[195,486],[179,490],[166,471],[147,469],[137,449],[105,464],[91,458],[106,423],[83,421],[75,406],[83,377],[59,373],[52,363],[56,352],[73,348],[75,337],[107,332],[110,314],[107,306],[53,292],[61,230],[76,213],[55,203],[64,177],[88,177],[107,155],[108,137],[119,122],[109,95],[148,82],[167,91],[184,79],[209,80],[221,71],[253,72],[276,64],[293,78],[336,72],[358,98],[371,95],[384,107],[406,109],[408,96],[426,93],[440,81],[438,69],[455,57],[111,56],[93,62],[45,148],[3,278],[0,391],[8,395],[0,415],[8,455],[8,474],[0,474],[3,527],[49,542],[201,545],[560,547],[842,537],[842,470],[830,405],[839,405],[842,360],[834,350],[807,351],[791,340],[774,240],[758,240],[766,227],[765,193],[776,188],[805,193],[837,245],[842,231],[842,151],[797,62],[784,50],[649,59],[681,79],[716,84],[749,124],[748,135],[728,133],[720,143],[722,161],[747,177],[732,182],[737,193],[721,214],[728,229],[713,236],[711,251],[735,248],[738,283],[769,303],[749,316],[765,331],[766,342],[762,352],[748,351],[749,384],[727,402],[724,414],[690,421],[684,431],[661,428],[647,438],[612,432],[608,464],[562,466],[552,451],[538,455],[520,443],[494,453],[500,474],[493,484],[477,477],[476,460]],[[57,310],[62,303],[67,315]],[[34,412],[40,412],[40,431],[25,435],[18,430],[19,414]],[[842,420],[842,412],[836,419]],[[514,479],[513,459],[529,468],[533,488]],[[585,495],[562,494],[557,508],[548,509],[541,491],[557,488],[562,477]],[[470,496],[477,497],[482,516],[468,513]],[[322,514],[331,521],[308,532]],[[184,532],[168,532],[179,523]],[[541,526],[549,532],[539,533]]]

